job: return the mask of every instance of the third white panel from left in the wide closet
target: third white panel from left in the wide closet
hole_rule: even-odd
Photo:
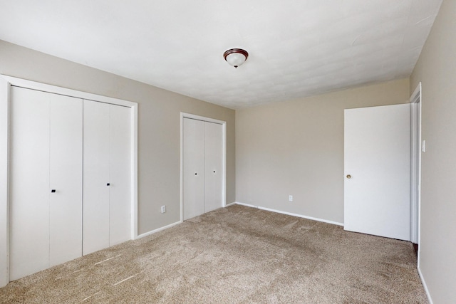
[[[83,254],[109,247],[110,105],[84,100]]]

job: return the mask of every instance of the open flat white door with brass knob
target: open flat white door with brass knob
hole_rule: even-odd
[[[344,229],[410,239],[410,105],[345,110]]]

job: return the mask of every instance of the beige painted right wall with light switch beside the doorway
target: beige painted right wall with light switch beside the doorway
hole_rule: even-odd
[[[421,81],[420,270],[433,303],[456,300],[456,1],[444,0],[410,78]]]

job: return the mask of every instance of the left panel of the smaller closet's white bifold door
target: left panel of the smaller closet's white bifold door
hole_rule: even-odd
[[[184,219],[204,214],[204,122],[183,120]]]

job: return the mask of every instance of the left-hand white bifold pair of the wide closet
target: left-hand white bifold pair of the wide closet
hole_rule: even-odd
[[[82,254],[81,101],[11,88],[10,281]]]

